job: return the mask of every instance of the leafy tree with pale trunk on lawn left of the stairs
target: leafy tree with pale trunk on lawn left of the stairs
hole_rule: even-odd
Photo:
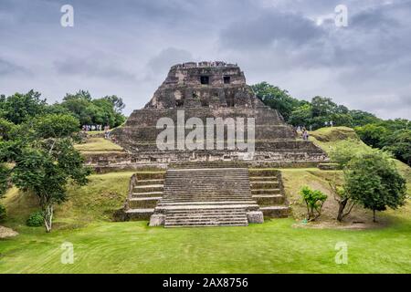
[[[12,181],[37,195],[47,233],[52,229],[54,206],[67,200],[69,182],[84,185],[90,169],[69,139],[49,139],[26,147],[16,158]]]

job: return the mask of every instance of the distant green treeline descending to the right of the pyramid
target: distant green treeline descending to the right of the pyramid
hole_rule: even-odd
[[[334,126],[353,128],[360,138],[374,148],[391,151],[395,158],[411,165],[411,124],[406,119],[382,120],[363,110],[349,110],[329,98],[320,96],[310,101],[295,99],[287,90],[267,82],[251,86],[258,99],[271,109],[279,110],[293,126],[313,130],[332,121]]]

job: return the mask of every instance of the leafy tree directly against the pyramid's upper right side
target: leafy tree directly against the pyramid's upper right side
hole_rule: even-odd
[[[254,93],[271,109],[278,110],[284,120],[289,120],[292,110],[306,103],[290,96],[287,90],[279,89],[267,82],[261,82],[251,86]]]

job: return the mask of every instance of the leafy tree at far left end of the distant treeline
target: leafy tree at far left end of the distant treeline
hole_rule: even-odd
[[[26,94],[16,93],[2,101],[2,116],[15,124],[20,124],[30,118],[45,112],[46,99],[40,99],[41,94],[30,90]]]

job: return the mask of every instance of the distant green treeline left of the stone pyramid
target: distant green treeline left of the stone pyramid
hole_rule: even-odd
[[[39,92],[30,90],[8,97],[1,95],[0,119],[19,125],[48,114],[71,115],[79,120],[79,125],[110,125],[113,128],[124,122],[125,117],[121,113],[124,107],[122,99],[115,95],[92,99],[89,91],[85,90],[68,93],[60,103],[49,105]]]

